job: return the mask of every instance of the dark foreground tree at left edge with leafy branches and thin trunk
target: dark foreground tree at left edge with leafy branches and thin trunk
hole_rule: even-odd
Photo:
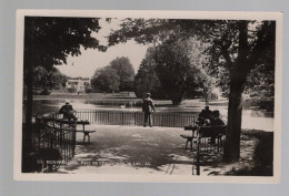
[[[100,30],[99,19],[92,18],[24,18],[24,82],[27,84],[27,113],[24,140],[28,151],[32,146],[32,85],[33,69],[43,66],[51,71],[53,65],[66,64],[68,55],[81,54],[84,49],[92,48],[104,51],[98,40],[92,37]]]

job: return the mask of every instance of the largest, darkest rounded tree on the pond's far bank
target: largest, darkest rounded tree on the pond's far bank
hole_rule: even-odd
[[[192,52],[198,53],[192,51],[193,44],[195,40],[181,40],[171,35],[156,47],[156,73],[173,105],[179,105],[188,91],[202,86],[206,81],[206,73],[195,64],[196,61],[190,55]]]

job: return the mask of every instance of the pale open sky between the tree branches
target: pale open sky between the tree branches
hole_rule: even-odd
[[[99,23],[101,29],[98,33],[92,33],[92,37],[97,38],[100,41],[100,44],[106,45],[107,39],[104,37],[108,35],[111,30],[119,29],[121,20],[113,19],[110,23],[108,23],[100,19]],[[67,59],[67,64],[58,65],[57,68],[67,76],[91,78],[97,69],[108,65],[118,56],[127,56],[137,73],[141,60],[146,55],[148,47],[149,45],[138,44],[133,40],[110,47],[106,52],[99,52],[98,50],[92,49],[84,50],[81,47],[81,54],[79,56],[69,55]]]

